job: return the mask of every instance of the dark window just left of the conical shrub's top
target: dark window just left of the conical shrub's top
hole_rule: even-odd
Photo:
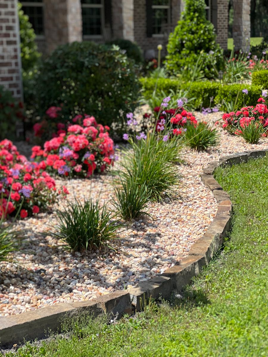
[[[169,25],[170,0],[152,0],[152,34],[163,34],[164,26]]]

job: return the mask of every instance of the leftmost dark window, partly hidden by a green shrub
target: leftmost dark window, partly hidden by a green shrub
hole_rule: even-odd
[[[22,10],[24,14],[29,16],[29,21],[33,26],[34,32],[37,36],[44,35],[43,24],[43,0],[28,0],[21,1]]]

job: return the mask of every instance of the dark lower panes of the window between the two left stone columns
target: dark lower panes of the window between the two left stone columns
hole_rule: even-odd
[[[101,9],[82,7],[83,35],[101,35]]]

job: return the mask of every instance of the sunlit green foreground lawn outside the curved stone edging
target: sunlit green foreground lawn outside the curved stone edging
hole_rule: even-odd
[[[267,356],[268,156],[215,176],[234,203],[232,233],[182,297],[111,325],[66,322],[67,337],[7,356]]]

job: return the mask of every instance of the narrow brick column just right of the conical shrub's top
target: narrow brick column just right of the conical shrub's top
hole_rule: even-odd
[[[229,0],[217,1],[217,42],[227,50]]]

